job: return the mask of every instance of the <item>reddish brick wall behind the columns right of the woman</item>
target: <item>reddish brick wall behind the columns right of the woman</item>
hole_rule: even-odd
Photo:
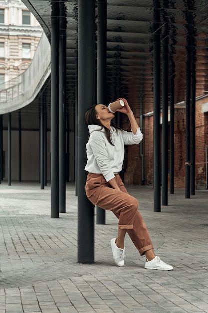
[[[196,101],[196,158],[195,182],[196,188],[206,188],[206,157],[205,146],[208,145],[208,113],[202,113],[203,103],[208,97]],[[138,112],[137,112],[138,113]],[[186,160],[186,110],[175,108],[174,112],[174,187],[185,188]],[[123,121],[128,129],[128,120]],[[129,129],[128,129],[129,130]],[[143,117],[142,151],[145,159],[145,185],[153,183],[153,115]],[[141,143],[140,143],[141,144]],[[170,146],[170,142],[168,144]],[[161,148],[162,150],[162,148]],[[169,161],[169,160],[168,160]],[[169,165],[169,163],[168,163]],[[124,182],[126,184],[142,184],[140,146],[128,146],[124,162]],[[168,176],[169,178],[169,176]]]

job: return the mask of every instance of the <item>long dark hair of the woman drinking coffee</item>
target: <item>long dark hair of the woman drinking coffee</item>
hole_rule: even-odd
[[[103,128],[105,129],[105,135],[106,135],[106,138],[108,140],[108,142],[112,145],[114,145],[111,141],[111,136],[110,136],[110,130],[105,127],[99,119],[96,118],[96,115],[97,115],[97,112],[95,110],[95,107],[96,107],[97,104],[94,104],[92,105],[88,111],[85,113],[85,120],[86,120],[86,123],[87,125],[98,125],[100,126],[100,130],[102,130]],[[111,121],[111,126],[113,126],[116,130],[117,129],[120,129],[119,127],[117,127],[112,121]]]

